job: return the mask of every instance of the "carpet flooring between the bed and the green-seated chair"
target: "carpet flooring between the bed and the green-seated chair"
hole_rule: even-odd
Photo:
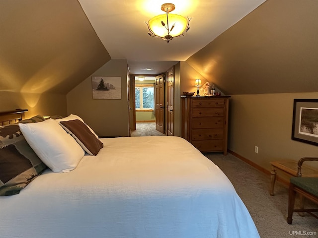
[[[261,238],[317,238],[318,219],[293,214],[287,223],[288,187],[276,181],[274,196],[269,195],[270,177],[228,154],[204,154],[227,175],[247,207]],[[316,206],[309,202],[305,206]],[[317,207],[317,206],[316,206]]]

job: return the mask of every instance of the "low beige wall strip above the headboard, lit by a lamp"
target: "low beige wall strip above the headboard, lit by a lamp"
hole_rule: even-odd
[[[27,109],[26,118],[38,114],[42,116],[67,115],[66,95],[53,93],[0,92],[0,112]]]

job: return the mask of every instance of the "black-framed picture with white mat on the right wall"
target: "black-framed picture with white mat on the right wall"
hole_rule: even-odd
[[[318,99],[294,99],[292,140],[318,146]]]

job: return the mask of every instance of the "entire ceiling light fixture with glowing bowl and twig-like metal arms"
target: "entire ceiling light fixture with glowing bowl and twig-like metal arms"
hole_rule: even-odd
[[[175,9],[172,3],[164,3],[161,5],[161,10],[165,14],[161,14],[151,18],[148,23],[146,22],[150,32],[148,35],[160,37],[169,43],[174,37],[183,36],[187,32],[191,18],[184,17],[177,14],[169,14]]]

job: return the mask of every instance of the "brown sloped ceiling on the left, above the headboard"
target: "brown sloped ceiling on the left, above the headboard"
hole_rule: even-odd
[[[110,60],[77,0],[1,0],[0,34],[0,91],[66,94]]]

